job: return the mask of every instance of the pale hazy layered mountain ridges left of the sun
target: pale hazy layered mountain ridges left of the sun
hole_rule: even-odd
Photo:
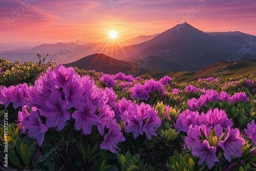
[[[42,44],[29,49],[0,51],[0,57],[6,58],[11,61],[19,59],[20,62],[28,60],[38,61],[38,58],[36,56],[37,53],[40,53],[42,57],[49,53],[47,59],[55,58],[57,63],[63,64],[76,61],[84,56],[88,56],[95,53],[108,54],[120,48],[122,47],[106,47],[106,45],[103,43],[90,43],[86,45],[79,45],[73,43]]]

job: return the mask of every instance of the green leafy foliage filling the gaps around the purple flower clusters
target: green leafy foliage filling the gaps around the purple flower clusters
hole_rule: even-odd
[[[41,74],[46,72],[48,67],[54,69],[56,67],[54,60],[45,63],[46,57],[41,58],[37,54],[38,62],[31,61],[19,63],[19,61],[10,62],[0,58],[0,85],[9,87],[19,83],[28,83],[32,85],[34,80]],[[97,86],[105,87],[99,78],[102,73],[95,71],[85,71],[74,68],[79,75],[89,75],[94,79]],[[174,73],[175,74],[175,73]],[[192,77],[194,73],[186,73],[186,79]],[[241,134],[244,135],[244,129],[252,120],[256,120],[256,92],[255,87],[246,84],[247,79],[256,81],[253,75],[230,77],[220,79],[218,82],[197,81],[193,82],[177,82],[183,78],[174,79],[171,86],[165,86],[166,94],[159,96],[160,92],[152,92],[150,99],[143,101],[150,104],[161,118],[162,125],[156,131],[157,136],[153,136],[148,140],[146,135],[140,135],[134,139],[132,133],[125,132],[125,124],[118,123],[121,132],[125,137],[125,141],[120,143],[118,147],[121,149],[116,154],[111,154],[99,148],[99,144],[103,141],[95,130],[94,126],[91,135],[82,135],[81,131],[75,130],[75,121],[71,119],[66,123],[65,128],[58,132],[53,127],[49,128],[45,134],[45,141],[42,146],[37,146],[36,142],[20,134],[20,127],[16,126],[17,113],[20,108],[13,109],[12,104],[7,108],[0,105],[0,156],[3,156],[3,148],[5,143],[4,130],[4,114],[8,112],[7,139],[9,143],[9,159],[12,167],[18,169],[35,169],[35,170],[92,170],[92,171],[111,171],[111,170],[147,170],[160,171],[166,170],[207,170],[206,163],[198,165],[199,158],[192,157],[191,152],[184,151],[183,137],[186,133],[176,132],[174,123],[180,113],[188,109],[187,100],[191,98],[199,98],[202,92],[181,92],[172,93],[173,89],[183,90],[188,85],[201,89],[214,89],[218,92],[226,91],[229,95],[237,92],[245,92],[249,97],[248,102],[237,102],[230,104],[229,102],[209,102],[206,106],[202,106],[200,113],[206,113],[209,109],[219,108],[225,111],[232,120],[234,126],[238,127]],[[191,78],[192,79],[192,78]],[[183,79],[185,80],[185,79]],[[134,83],[142,83],[145,80],[135,81]],[[118,95],[117,100],[123,97],[135,101],[130,97],[128,89],[122,90],[121,81],[117,81],[117,85],[113,88]],[[142,101],[136,100],[140,104]],[[169,105],[169,106],[168,106]],[[167,107],[168,106],[168,107]],[[72,108],[69,112],[72,114],[76,109]],[[214,132],[211,131],[210,144],[215,144]],[[25,136],[25,137],[24,137]],[[247,137],[244,136],[246,139]],[[212,141],[211,141],[212,140]],[[218,154],[220,162],[216,163],[212,170],[224,170],[225,166],[237,163],[233,170],[256,170],[256,147],[248,138],[246,145],[242,148],[243,154],[240,158],[232,159],[231,163],[223,157],[223,152]],[[131,155],[132,154],[132,155]],[[133,156],[134,155],[134,156]],[[132,157],[133,156],[133,157]],[[169,159],[169,160],[168,160]],[[228,163],[228,164],[227,164]]]

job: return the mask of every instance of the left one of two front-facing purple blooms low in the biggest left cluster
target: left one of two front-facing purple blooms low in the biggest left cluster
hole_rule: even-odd
[[[70,119],[70,113],[67,111],[67,103],[61,100],[60,94],[55,93],[46,101],[46,107],[39,109],[42,116],[47,118],[46,126],[55,127],[61,131],[67,120]]]

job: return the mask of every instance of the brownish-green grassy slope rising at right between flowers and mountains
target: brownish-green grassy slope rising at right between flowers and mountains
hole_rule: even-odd
[[[151,76],[156,79],[160,79],[165,75],[175,78],[179,82],[184,81],[196,81],[199,78],[226,78],[234,76],[244,76],[247,74],[256,74],[256,60],[243,60],[237,62],[218,62],[203,69],[192,71],[181,71],[181,72],[153,72],[144,74],[141,78]]]

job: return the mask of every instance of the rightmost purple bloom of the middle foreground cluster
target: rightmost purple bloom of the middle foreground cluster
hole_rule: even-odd
[[[150,110],[148,114],[142,130],[146,133],[147,139],[151,140],[152,135],[157,136],[156,130],[161,126],[161,119],[154,110]]]

